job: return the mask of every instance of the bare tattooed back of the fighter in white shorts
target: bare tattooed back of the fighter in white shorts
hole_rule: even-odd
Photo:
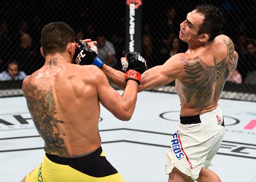
[[[209,45],[180,54],[183,73],[175,80],[181,115],[209,112],[217,103],[229,74],[236,67],[237,53],[228,36],[215,37]],[[182,58],[183,57],[183,58]]]

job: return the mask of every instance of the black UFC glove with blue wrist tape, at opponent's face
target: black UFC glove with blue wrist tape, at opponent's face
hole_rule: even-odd
[[[73,63],[80,65],[96,65],[97,67],[102,67],[103,61],[97,56],[97,51],[93,51],[89,48],[86,42],[78,40],[78,47],[75,50],[75,55],[73,58]]]

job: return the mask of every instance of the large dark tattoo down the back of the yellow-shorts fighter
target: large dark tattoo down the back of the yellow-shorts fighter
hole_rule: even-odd
[[[24,95],[34,125],[44,139],[44,150],[51,155],[69,156],[65,141],[62,138],[66,134],[59,125],[64,121],[54,118],[57,112],[52,86],[50,85],[49,91],[39,90],[36,85],[32,85],[29,81]]]

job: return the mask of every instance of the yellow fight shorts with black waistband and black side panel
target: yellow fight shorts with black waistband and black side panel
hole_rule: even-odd
[[[124,179],[106,160],[100,147],[77,158],[45,154],[42,163],[26,176],[26,182],[124,182]]]

